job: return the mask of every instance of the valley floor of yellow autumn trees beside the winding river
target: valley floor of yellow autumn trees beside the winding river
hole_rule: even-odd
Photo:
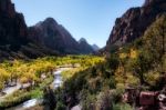
[[[34,102],[33,99],[43,97],[44,87],[49,87],[51,84],[52,89],[56,89],[63,84],[63,81],[66,79],[69,80],[72,76],[74,76],[76,71],[82,71],[102,61],[103,58],[95,56],[66,56],[46,57],[31,61],[14,60],[12,62],[2,62],[0,63],[0,68],[2,68],[1,72],[3,72],[1,78],[6,78],[2,80],[2,84],[6,86],[6,83],[12,79],[12,81],[18,80],[21,84],[30,83],[30,88],[23,88],[23,90],[19,89],[15,93],[11,92],[10,96],[4,98],[6,102],[0,103],[0,108],[14,107],[21,102],[27,103],[27,101],[28,103]],[[4,86],[2,86],[0,90],[2,90]],[[58,91],[55,90],[54,92]],[[29,101],[31,99],[33,101]],[[59,99],[60,98],[56,99],[58,102]],[[61,103],[61,100],[59,103]]]

